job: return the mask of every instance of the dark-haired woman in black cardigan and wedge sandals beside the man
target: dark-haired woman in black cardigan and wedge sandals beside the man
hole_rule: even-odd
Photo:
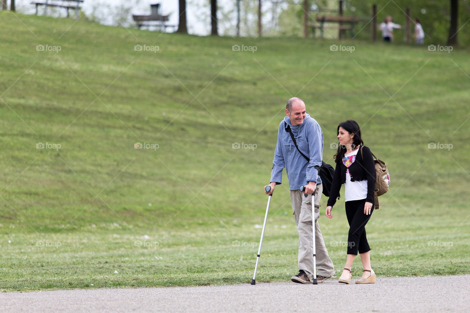
[[[374,184],[376,171],[371,150],[364,146],[359,125],[352,120],[338,125],[338,150],[334,155],[336,168],[334,171],[326,215],[332,218],[331,209],[336,202],[335,195],[345,185],[345,207],[349,223],[348,251],[346,265],[338,282],[351,282],[351,266],[359,252],[362,267],[361,279],[356,284],[374,284],[376,274],[371,267],[371,248],[367,243],[365,225],[374,211]]]

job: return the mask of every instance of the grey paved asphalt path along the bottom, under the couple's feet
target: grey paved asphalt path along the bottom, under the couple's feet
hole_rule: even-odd
[[[0,312],[470,312],[470,275],[0,293]]]

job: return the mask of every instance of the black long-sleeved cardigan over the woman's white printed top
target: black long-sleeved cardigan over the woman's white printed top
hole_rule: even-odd
[[[351,175],[351,181],[367,180],[367,202],[374,203],[374,185],[376,183],[376,167],[374,164],[374,158],[372,157],[371,149],[364,146],[361,155],[361,147],[357,152],[356,159],[349,167],[349,174]],[[346,165],[343,164],[342,158],[339,163],[336,163],[334,169],[333,182],[331,183],[331,189],[329,191],[329,199],[327,206],[333,206],[336,203],[335,195],[338,194],[341,189],[341,185],[346,182]]]

